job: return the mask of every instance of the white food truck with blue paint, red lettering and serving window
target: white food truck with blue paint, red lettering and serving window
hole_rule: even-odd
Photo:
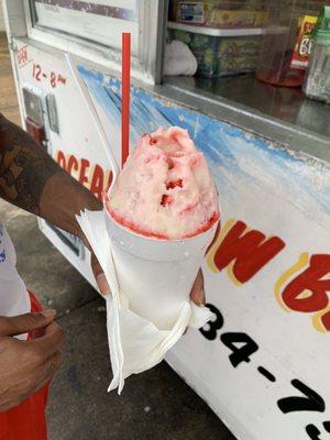
[[[326,440],[330,109],[253,75],[164,76],[166,41],[177,31],[196,35],[202,20],[205,2],[182,3],[184,24],[168,21],[162,0],[4,0],[22,124],[101,198],[111,182],[109,152],[65,55],[74,57],[120,163],[121,33],[131,33],[131,147],[158,127],[187,129],[210,164],[221,205],[221,231],[202,267],[213,318],[166,361],[237,438]],[[233,35],[261,37],[261,21],[258,14],[252,30],[237,33],[200,28],[200,35],[227,46]],[[206,63],[215,55],[208,54]],[[233,64],[223,58],[223,65]],[[95,286],[82,243],[38,224]]]

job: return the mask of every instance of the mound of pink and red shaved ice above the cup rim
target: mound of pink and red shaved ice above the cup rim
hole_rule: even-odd
[[[105,206],[121,226],[164,240],[197,235],[219,219],[206,158],[178,127],[142,135]]]

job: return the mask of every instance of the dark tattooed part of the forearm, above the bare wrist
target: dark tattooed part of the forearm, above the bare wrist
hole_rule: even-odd
[[[35,215],[46,182],[65,173],[22,129],[0,114],[0,197]]]

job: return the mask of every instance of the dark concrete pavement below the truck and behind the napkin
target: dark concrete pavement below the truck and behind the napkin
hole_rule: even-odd
[[[19,121],[1,35],[0,112]],[[57,309],[67,336],[63,367],[52,385],[50,440],[234,440],[164,362],[130,377],[122,396],[107,394],[111,370],[103,300],[38,231],[33,216],[0,200],[0,219],[14,242],[20,274]]]

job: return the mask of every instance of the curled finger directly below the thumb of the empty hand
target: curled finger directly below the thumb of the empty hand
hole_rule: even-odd
[[[44,336],[38,339],[28,341],[30,349],[34,351],[37,364],[43,364],[45,360],[53,356],[64,344],[65,336],[56,322],[52,322],[45,328]]]

